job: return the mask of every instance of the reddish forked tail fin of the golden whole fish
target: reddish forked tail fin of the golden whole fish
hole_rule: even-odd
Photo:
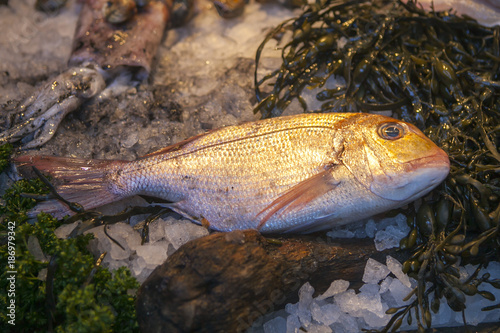
[[[127,195],[113,191],[109,175],[120,169],[126,161],[89,160],[52,156],[20,156],[14,159],[18,166],[34,166],[55,178],[57,193],[69,202],[76,202],[85,209],[92,209],[124,198]],[[55,218],[73,215],[63,202],[53,199],[39,203],[28,212],[34,217],[40,212]]]

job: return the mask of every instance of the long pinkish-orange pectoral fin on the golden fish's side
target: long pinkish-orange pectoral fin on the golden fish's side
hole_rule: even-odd
[[[333,178],[333,167],[328,166],[324,171],[298,183],[271,202],[257,214],[257,217],[263,216],[257,229],[261,229],[273,215],[298,211],[314,199],[335,189],[340,181]]]

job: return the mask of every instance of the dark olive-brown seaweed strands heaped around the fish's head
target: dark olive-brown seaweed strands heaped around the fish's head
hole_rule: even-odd
[[[458,312],[465,295],[494,301],[479,286],[500,288],[500,280],[478,273],[500,249],[500,27],[426,12],[416,1],[320,0],[303,9],[257,50],[254,111],[275,117],[298,101],[304,112],[392,112],[420,127],[451,161],[447,180],[406,211],[411,231],[400,247],[413,255],[403,271],[418,281],[407,299],[417,298],[389,309],[382,331],[397,330],[404,318],[415,318],[419,331],[431,327],[442,296]],[[283,61],[265,72],[259,60],[272,43]],[[465,281],[454,265],[460,260],[480,264]]]

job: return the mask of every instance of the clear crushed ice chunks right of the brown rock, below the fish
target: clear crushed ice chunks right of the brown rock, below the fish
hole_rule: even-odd
[[[465,275],[469,275],[477,266],[461,267]],[[491,262],[488,271],[492,276],[500,276],[500,263]],[[483,269],[480,272],[486,272]],[[391,274],[392,273],[392,274]],[[372,278],[369,278],[373,274]],[[330,288],[322,295],[314,297],[314,288],[306,282],[299,290],[299,301],[296,304],[287,304],[285,314],[276,312],[276,316],[266,315],[266,322],[262,326],[254,326],[247,333],[274,333],[274,332],[360,332],[362,329],[384,327],[391,315],[385,312],[391,307],[407,305],[415,299],[403,301],[416,281],[408,278],[401,272],[401,263],[387,257],[387,266],[375,260],[369,260],[363,277],[365,284],[358,291],[347,289],[349,282],[344,280],[333,281]],[[498,289],[489,284],[482,284],[481,290],[487,290],[499,297]],[[446,300],[441,299],[445,304]],[[497,322],[500,310],[481,311],[481,308],[492,303],[480,295],[467,297],[465,316],[470,325],[484,322]],[[462,314],[453,312],[448,306],[441,306],[438,313],[432,312],[433,327],[461,326]],[[403,321],[401,330],[416,329]]]

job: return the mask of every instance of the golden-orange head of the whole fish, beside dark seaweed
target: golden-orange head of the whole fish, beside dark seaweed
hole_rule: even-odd
[[[448,175],[448,155],[412,124],[380,115],[364,116],[344,138],[342,162],[372,193],[410,202]]]

